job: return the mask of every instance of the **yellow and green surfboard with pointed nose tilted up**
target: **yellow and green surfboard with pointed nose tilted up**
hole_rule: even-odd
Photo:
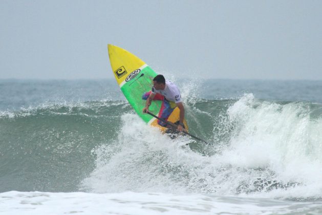
[[[160,126],[156,118],[142,112],[146,102],[146,100],[142,99],[142,95],[151,91],[153,87],[153,78],[157,73],[143,60],[125,49],[109,44],[108,51],[114,77],[134,111],[147,124],[159,127],[161,131],[165,131],[166,128]],[[161,109],[161,104],[162,101],[154,100],[149,106],[149,111],[158,115]],[[180,110],[176,107],[173,113],[169,116],[168,121],[173,123],[179,121],[179,114]],[[186,130],[188,130],[188,125],[185,120],[184,125]]]

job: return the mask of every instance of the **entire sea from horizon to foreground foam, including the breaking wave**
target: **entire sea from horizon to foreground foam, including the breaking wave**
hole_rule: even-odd
[[[171,80],[208,145],[115,80],[0,80],[0,214],[322,213],[322,81]]]

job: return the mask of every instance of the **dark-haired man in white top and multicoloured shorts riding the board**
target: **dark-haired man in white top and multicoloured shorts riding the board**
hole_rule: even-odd
[[[148,111],[148,107],[151,105],[153,100],[162,100],[162,106],[159,112],[159,117],[167,120],[170,114],[175,110],[176,107],[180,110],[180,120],[177,130],[183,131],[184,124],[184,107],[181,100],[181,95],[178,87],[171,81],[165,80],[163,75],[157,75],[153,79],[152,90],[143,94],[142,99],[146,100],[143,113]],[[158,120],[158,124],[166,127],[166,124]]]

